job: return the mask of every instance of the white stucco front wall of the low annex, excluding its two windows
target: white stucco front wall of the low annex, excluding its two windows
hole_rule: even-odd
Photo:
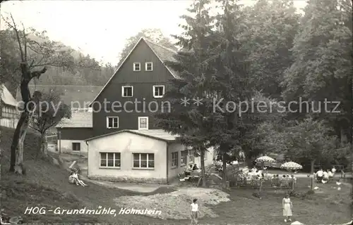
[[[120,168],[101,168],[100,153],[120,153]],[[133,168],[133,153],[154,153],[155,168]],[[88,141],[88,176],[122,181],[166,181],[167,142],[122,132]]]

